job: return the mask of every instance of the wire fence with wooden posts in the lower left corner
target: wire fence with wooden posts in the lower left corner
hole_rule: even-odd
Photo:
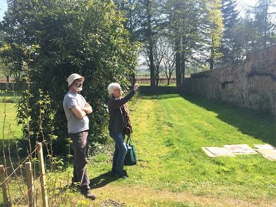
[[[3,150],[4,159],[0,163],[0,191],[3,194],[0,206],[77,206],[76,202],[64,199],[70,194],[70,172],[59,180],[56,175],[61,171],[51,167],[55,161],[49,159],[47,150],[43,155],[42,149],[47,148],[46,141],[38,143],[29,155],[20,160],[10,153],[9,144],[7,148]],[[29,175],[27,164],[30,165]]]

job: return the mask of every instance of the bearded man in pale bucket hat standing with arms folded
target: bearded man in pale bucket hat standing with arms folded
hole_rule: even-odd
[[[92,108],[86,102],[86,99],[78,93],[82,90],[84,77],[73,73],[68,77],[67,81],[69,91],[64,96],[63,109],[68,121],[68,135],[72,139],[72,148],[75,155],[72,181],[80,183],[79,189],[82,195],[95,199],[96,195],[90,190],[90,180],[86,171],[89,129],[87,115],[92,113]]]

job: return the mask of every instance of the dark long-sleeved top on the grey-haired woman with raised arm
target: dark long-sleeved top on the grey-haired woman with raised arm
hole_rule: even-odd
[[[108,113],[109,113],[109,124],[108,130],[112,133],[121,133],[126,127],[124,123],[123,111],[124,104],[128,102],[135,95],[135,90],[130,90],[128,95],[122,97],[121,99],[116,99],[112,97],[108,101]]]

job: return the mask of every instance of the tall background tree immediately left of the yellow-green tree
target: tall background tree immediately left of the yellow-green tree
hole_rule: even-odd
[[[206,11],[200,0],[168,0],[164,3],[166,30],[175,48],[177,86],[184,81],[188,61],[201,50],[203,38],[200,34]]]

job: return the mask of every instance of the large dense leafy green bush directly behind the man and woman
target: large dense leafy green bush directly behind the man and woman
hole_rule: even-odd
[[[126,77],[137,59],[137,46],[130,41],[123,22],[112,1],[8,1],[1,29],[7,34],[6,52],[14,62],[26,65],[32,83],[30,95],[23,97],[32,106],[30,111],[23,110],[24,101],[18,107],[19,123],[31,117],[32,141],[57,136],[55,152],[65,150],[68,135],[62,99],[68,91],[66,78],[75,72],[86,78],[82,95],[94,111],[90,139],[106,139],[106,88],[114,81],[127,88]]]

